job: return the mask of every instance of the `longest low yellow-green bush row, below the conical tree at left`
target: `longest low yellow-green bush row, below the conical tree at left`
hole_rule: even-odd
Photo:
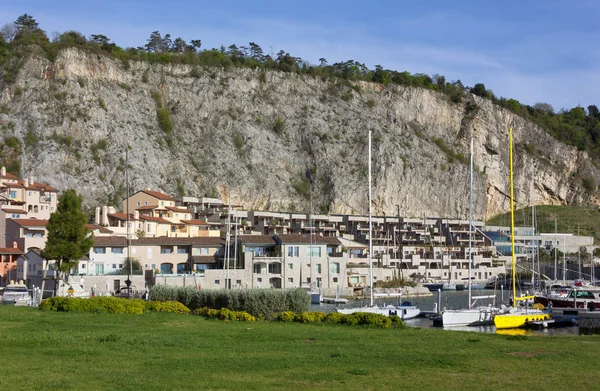
[[[142,314],[144,312],[171,312],[188,314],[189,308],[177,301],[144,301],[112,296],[96,296],[89,299],[78,297],[51,297],[40,304],[43,310],[71,312],[108,312],[111,314]]]

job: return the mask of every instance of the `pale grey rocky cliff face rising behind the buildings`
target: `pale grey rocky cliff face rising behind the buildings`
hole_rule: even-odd
[[[306,211],[310,177],[316,211],[367,213],[371,129],[375,213],[466,217],[473,137],[481,219],[509,208],[509,126],[519,206],[530,202],[532,170],[536,203],[598,203],[598,169],[585,153],[487,100],[467,101],[262,70],[127,65],[68,49],[54,62],[25,61],[2,87],[0,125],[21,140],[22,175],[75,188],[87,206],[120,205],[129,147],[132,191]],[[172,130],[159,127],[160,107]]]

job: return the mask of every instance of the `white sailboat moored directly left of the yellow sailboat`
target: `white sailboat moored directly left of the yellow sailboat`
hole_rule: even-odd
[[[469,175],[469,308],[461,310],[445,310],[442,312],[442,325],[444,327],[452,326],[484,326],[494,323],[494,315],[499,311],[498,308],[492,306],[475,307],[475,303],[479,299],[491,299],[496,296],[471,296],[472,278],[471,268],[473,263],[472,251],[472,233],[473,233],[473,138],[471,138],[471,158],[470,158],[470,175]]]

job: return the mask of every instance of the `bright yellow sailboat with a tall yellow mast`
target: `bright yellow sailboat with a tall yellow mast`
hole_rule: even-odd
[[[509,159],[510,159],[510,228],[512,246],[512,283],[513,283],[513,305],[507,313],[494,316],[494,325],[497,330],[514,329],[524,327],[529,322],[544,321],[550,319],[550,314],[530,308],[518,308],[518,302],[533,299],[533,296],[517,297],[517,271],[515,267],[515,205],[513,196],[513,169],[512,169],[512,128],[509,132]]]

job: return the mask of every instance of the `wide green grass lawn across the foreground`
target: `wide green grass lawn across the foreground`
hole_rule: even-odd
[[[0,306],[1,390],[591,390],[600,336]]]

